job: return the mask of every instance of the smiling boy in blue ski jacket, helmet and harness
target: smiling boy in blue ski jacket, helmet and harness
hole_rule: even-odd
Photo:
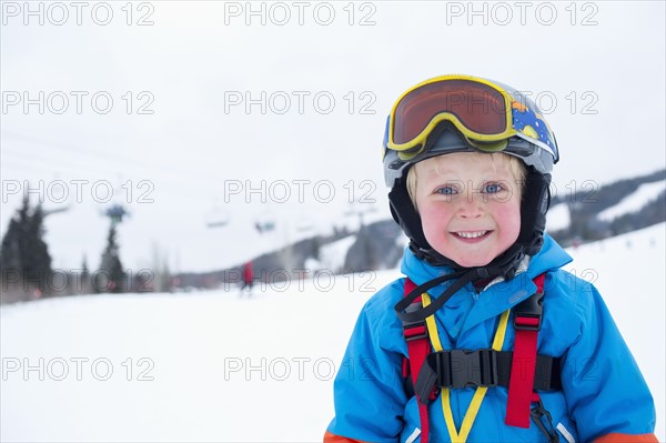
[[[400,97],[384,173],[407,278],[361,312],[325,442],[657,441],[602,298],[544,234],[557,160],[509,87],[445,75]]]

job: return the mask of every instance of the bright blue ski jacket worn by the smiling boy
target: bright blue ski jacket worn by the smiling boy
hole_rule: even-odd
[[[538,254],[509,281],[491,282],[481,292],[467,284],[435,313],[444,349],[491,348],[500,315],[534,292],[532,279],[546,273],[537,352],[562,358],[562,391],[541,393],[561,442],[656,442],[655,407],[640,371],[597,290],[562,270],[572,258],[548,235]],[[525,264],[525,262],[524,262]],[[406,250],[402,272],[423,284],[448,268],[432,266]],[[430,291],[434,299],[452,282]],[[363,308],[334,383],[335,417],[324,441],[420,442],[415,396],[402,374],[407,345],[393,306],[404,296],[404,279],[374,294]],[[503,350],[513,350],[513,323]],[[460,430],[475,389],[451,390]],[[506,387],[490,387],[468,442],[546,442],[534,423],[507,426]],[[431,402],[430,441],[448,442],[442,395]]]

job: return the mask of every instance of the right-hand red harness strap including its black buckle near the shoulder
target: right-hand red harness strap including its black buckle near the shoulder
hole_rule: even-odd
[[[535,278],[536,293],[514,308],[516,336],[508,381],[506,419],[504,421],[509,426],[529,427],[529,405],[532,403],[532,392],[534,391],[536,344],[543,312],[544,279],[545,274]]]

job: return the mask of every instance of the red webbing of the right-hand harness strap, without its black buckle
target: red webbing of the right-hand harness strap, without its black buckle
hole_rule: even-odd
[[[544,291],[545,274],[536,276],[533,281],[537,292]],[[541,319],[516,316],[515,325],[538,326]],[[514,355],[508,379],[508,400],[506,402],[506,420],[509,426],[529,427],[529,405],[534,386],[534,372],[536,370],[536,342],[537,330],[516,329]]]

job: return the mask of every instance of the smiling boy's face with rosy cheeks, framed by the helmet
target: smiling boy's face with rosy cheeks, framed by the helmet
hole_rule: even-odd
[[[521,231],[521,185],[506,154],[451,153],[416,168],[416,205],[427,242],[461,266],[483,266]]]

